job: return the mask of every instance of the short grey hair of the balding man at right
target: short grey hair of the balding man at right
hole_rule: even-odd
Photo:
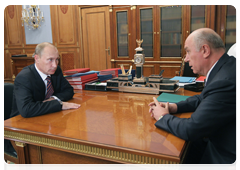
[[[200,51],[203,44],[209,45],[211,49],[224,49],[225,46],[221,37],[215,31],[199,31],[196,36],[194,36],[194,42],[196,45],[196,50]]]

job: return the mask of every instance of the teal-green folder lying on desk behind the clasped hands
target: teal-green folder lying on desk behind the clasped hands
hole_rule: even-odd
[[[170,93],[162,93],[158,96],[157,100],[159,102],[169,102],[169,103],[177,103],[183,100],[186,100],[190,96],[182,96],[178,94],[170,94]]]

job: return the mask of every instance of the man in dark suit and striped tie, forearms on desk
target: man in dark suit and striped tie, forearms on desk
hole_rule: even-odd
[[[58,66],[57,48],[46,42],[38,44],[34,58],[35,64],[23,68],[14,81],[11,117],[21,114],[27,118],[79,108],[79,104],[63,102],[71,99],[74,92]]]

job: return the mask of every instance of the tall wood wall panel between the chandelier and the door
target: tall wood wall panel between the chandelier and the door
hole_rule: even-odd
[[[53,44],[58,48],[62,70],[82,67],[80,19],[76,5],[51,5]]]

